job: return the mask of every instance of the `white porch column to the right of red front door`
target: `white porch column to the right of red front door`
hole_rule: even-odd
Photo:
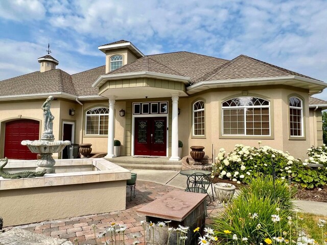
[[[172,156],[169,160],[178,161],[178,93],[172,93]]]

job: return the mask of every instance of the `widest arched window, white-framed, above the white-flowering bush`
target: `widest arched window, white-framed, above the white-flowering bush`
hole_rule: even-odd
[[[222,103],[223,135],[270,135],[270,102],[236,97]]]

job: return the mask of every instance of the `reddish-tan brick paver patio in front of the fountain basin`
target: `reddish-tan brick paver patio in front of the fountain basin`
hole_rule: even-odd
[[[92,230],[92,224],[97,225],[96,235],[98,235],[99,233],[104,232],[111,222],[114,222],[127,227],[125,231],[126,245],[133,244],[135,240],[143,243],[144,232],[140,222],[141,220],[145,220],[145,216],[138,215],[136,210],[143,205],[152,202],[156,198],[178,188],[146,181],[137,181],[136,184],[136,197],[132,198],[132,201],[130,201],[130,189],[127,188],[126,210],[50,220],[16,227],[52,237],[69,239],[71,241],[78,238],[78,244],[80,245],[94,245],[97,243]],[[214,202],[214,204],[216,204],[216,202]],[[206,220],[206,224],[211,224],[212,220],[210,218],[215,216],[215,214],[220,210],[214,204],[212,203],[207,207],[208,212],[211,212],[211,215],[209,219]],[[121,239],[123,239],[122,235]],[[97,241],[100,242],[99,239],[97,239]]]

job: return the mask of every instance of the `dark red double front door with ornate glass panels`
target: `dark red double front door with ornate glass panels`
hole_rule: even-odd
[[[167,118],[135,118],[134,155],[167,156]]]

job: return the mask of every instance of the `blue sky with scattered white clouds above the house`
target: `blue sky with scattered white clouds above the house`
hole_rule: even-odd
[[[98,46],[120,39],[146,55],[244,54],[327,82],[325,0],[2,0],[0,80],[39,70],[48,43],[75,74],[104,65]]]

